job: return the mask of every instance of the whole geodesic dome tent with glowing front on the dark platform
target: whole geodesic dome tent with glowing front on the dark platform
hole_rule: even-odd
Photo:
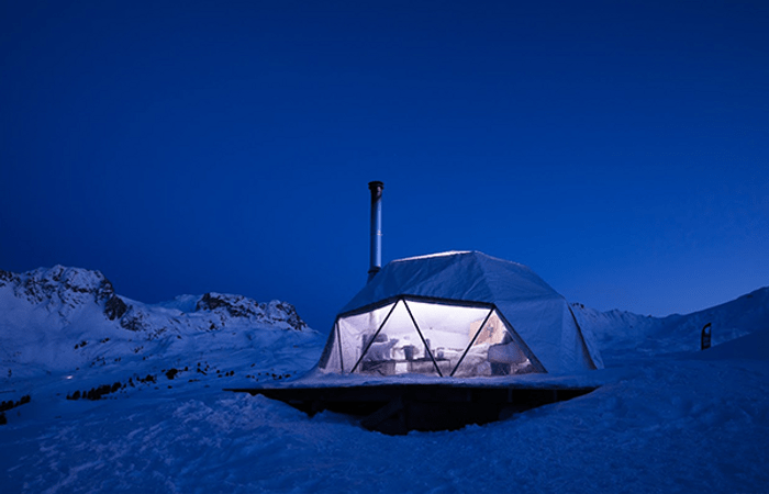
[[[317,367],[475,378],[603,366],[569,304],[531,269],[453,251],[388,263],[337,315]]]

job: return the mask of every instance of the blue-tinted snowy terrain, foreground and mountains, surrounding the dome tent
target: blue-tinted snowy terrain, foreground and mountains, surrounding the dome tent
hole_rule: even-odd
[[[3,493],[769,491],[767,289],[661,319],[579,307],[606,369],[573,380],[599,390],[486,426],[390,437],[222,391],[316,362],[325,338],[289,304],[121,297],[110,319],[118,295],[100,273],[51,271],[0,272],[0,400],[31,396],[0,426]],[[720,345],[696,351],[706,322]],[[114,383],[99,401],[66,398]]]

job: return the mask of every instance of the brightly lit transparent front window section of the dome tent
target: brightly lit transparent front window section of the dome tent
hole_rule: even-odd
[[[339,317],[327,372],[491,377],[536,372],[497,310],[400,299]]]

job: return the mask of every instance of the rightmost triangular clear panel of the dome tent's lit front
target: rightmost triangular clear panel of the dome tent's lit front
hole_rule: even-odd
[[[534,368],[513,340],[506,326],[494,311],[483,327],[482,319],[473,324],[476,340],[454,371],[456,378],[510,375],[533,372]]]

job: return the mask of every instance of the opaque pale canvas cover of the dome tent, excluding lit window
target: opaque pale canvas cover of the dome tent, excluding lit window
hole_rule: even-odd
[[[583,334],[560,294],[527,267],[478,251],[389,262],[345,305],[337,321],[404,296],[495,307],[539,371],[569,373],[602,367],[590,335]]]

